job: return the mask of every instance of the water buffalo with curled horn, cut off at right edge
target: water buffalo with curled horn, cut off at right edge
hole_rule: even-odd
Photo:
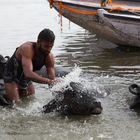
[[[129,86],[129,91],[135,95],[132,103],[130,104],[130,109],[140,110],[140,86],[132,84]]]

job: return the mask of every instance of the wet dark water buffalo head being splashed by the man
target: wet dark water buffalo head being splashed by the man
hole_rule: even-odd
[[[62,115],[100,114],[102,106],[94,94],[81,83],[71,82],[69,87],[59,91],[56,97],[43,107],[44,113],[53,111]]]

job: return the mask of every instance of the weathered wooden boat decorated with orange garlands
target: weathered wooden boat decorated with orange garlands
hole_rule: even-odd
[[[121,46],[140,47],[140,1],[108,1],[49,0],[60,15],[90,32]]]

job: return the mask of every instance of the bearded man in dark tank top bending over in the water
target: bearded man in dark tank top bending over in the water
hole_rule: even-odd
[[[31,81],[43,84],[55,82],[54,57],[51,53],[55,35],[49,29],[42,30],[37,42],[26,42],[16,49],[5,66],[4,82],[6,99],[19,103],[20,97],[34,95]],[[48,78],[35,73],[45,65]]]

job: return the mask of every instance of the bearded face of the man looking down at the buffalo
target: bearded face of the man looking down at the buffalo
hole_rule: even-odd
[[[43,40],[43,41],[38,41],[38,45],[44,54],[49,54],[52,50],[54,42]]]

